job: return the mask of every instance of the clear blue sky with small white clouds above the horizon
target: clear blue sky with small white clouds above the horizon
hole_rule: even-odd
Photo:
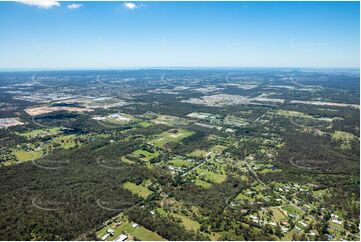
[[[0,68],[359,65],[359,2],[0,2]]]

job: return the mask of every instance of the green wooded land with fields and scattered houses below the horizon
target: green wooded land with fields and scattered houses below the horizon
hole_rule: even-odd
[[[0,238],[359,240],[359,76],[342,73],[2,73],[0,118],[24,124],[0,129]],[[25,111],[41,105],[93,111]]]

